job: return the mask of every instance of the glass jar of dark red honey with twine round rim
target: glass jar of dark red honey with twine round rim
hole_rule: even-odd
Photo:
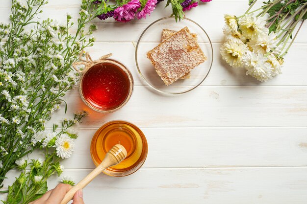
[[[133,84],[128,68],[116,60],[105,59],[82,71],[79,92],[91,109],[109,113],[126,105]]]

